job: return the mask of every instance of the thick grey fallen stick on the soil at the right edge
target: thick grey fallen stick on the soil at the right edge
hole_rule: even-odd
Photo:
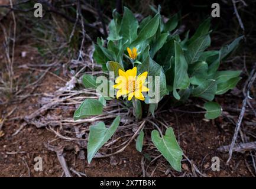
[[[228,152],[230,147],[231,147],[231,145],[221,146],[217,149],[217,151]],[[242,143],[242,144],[236,144],[233,148],[233,152],[245,152],[245,151],[250,151],[252,149],[256,149],[256,141]]]

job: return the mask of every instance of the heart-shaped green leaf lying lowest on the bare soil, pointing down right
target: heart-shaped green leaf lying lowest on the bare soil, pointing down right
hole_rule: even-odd
[[[154,130],[151,133],[151,138],[155,147],[157,147],[158,151],[167,159],[171,167],[176,171],[182,171],[181,161],[183,152],[176,141],[173,128],[168,128],[163,138],[161,138],[157,130]]]

